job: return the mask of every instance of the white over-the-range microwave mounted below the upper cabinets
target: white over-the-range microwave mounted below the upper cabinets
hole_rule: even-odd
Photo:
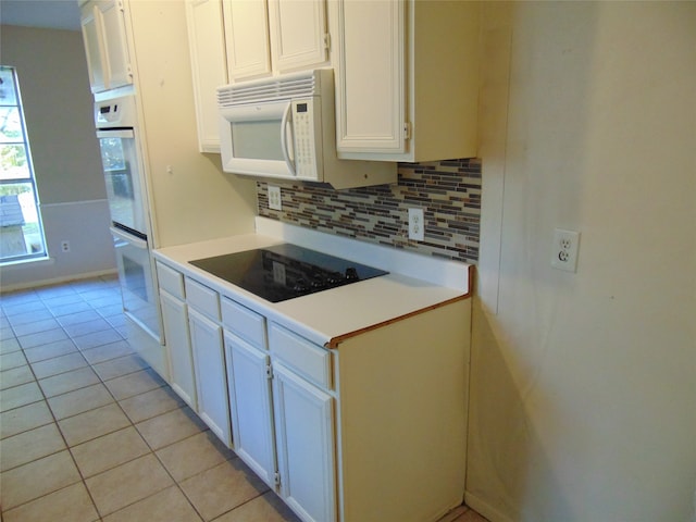
[[[334,188],[395,183],[396,163],[339,160],[333,70],[217,89],[223,171]]]

